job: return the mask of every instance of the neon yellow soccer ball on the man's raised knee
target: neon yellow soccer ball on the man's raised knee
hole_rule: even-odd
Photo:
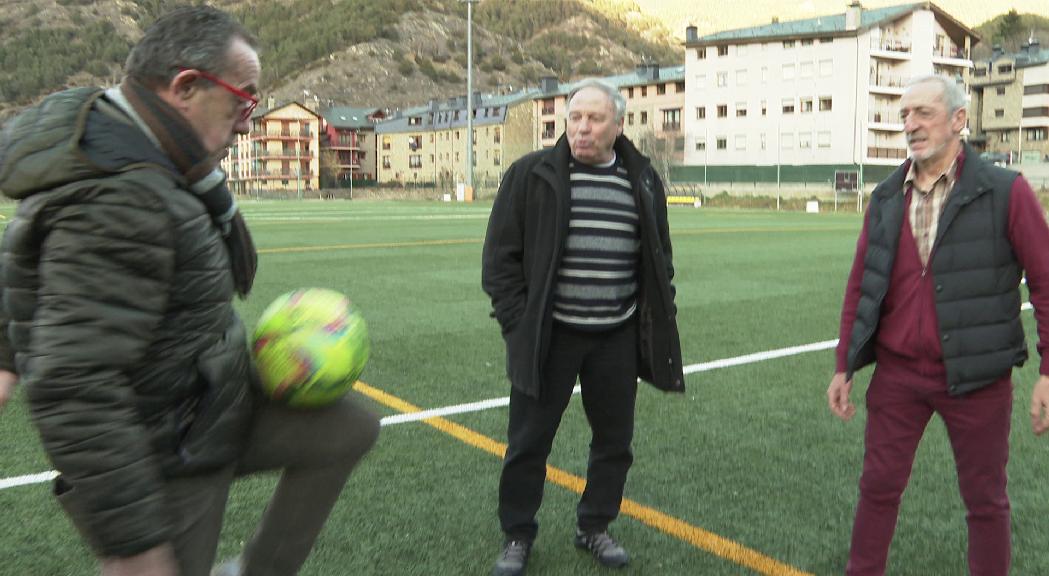
[[[252,349],[262,390],[294,407],[331,404],[368,362],[368,325],[344,295],[301,289],[279,296],[255,327]]]

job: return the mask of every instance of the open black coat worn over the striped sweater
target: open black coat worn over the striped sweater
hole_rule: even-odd
[[[638,377],[684,391],[673,264],[663,184],[648,158],[624,136],[615,143],[634,188],[641,228],[638,289]],[[565,136],[515,162],[502,177],[488,222],[481,286],[507,343],[507,375],[521,392],[542,398],[542,366],[553,321],[557,266],[569,233]]]

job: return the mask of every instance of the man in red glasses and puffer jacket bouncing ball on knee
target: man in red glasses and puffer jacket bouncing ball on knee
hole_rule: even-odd
[[[255,248],[218,169],[257,104],[255,40],[162,17],[109,90],[51,94],[0,135],[0,405],[24,384],[55,494],[104,576],[206,576],[233,478],[282,470],[229,575],[293,575],[378,419],[254,392],[233,296]]]

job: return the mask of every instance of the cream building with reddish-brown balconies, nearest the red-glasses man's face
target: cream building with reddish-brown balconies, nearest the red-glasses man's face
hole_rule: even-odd
[[[320,190],[321,116],[292,102],[256,110],[222,161],[230,190],[303,197]]]

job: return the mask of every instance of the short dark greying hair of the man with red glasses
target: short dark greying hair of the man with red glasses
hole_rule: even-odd
[[[257,49],[255,37],[229,14],[211,6],[176,8],[153,22],[131,48],[125,72],[151,88],[171,82],[179,67],[220,76],[228,71],[230,44],[237,38]]]

